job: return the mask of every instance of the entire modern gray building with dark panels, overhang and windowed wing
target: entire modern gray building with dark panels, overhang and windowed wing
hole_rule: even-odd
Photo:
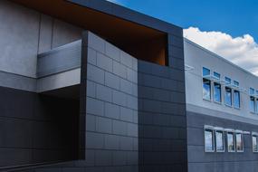
[[[3,0],[0,38],[0,171],[256,171],[256,76],[182,28],[103,0]]]

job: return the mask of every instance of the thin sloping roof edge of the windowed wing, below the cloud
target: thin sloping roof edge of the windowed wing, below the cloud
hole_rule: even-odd
[[[218,54],[216,54],[216,53],[211,52],[210,50],[204,48],[203,46],[201,46],[201,45],[199,45],[199,44],[197,44],[197,43],[194,43],[194,42],[188,40],[186,37],[184,37],[184,41],[186,41],[186,43],[190,43],[190,44],[196,46],[197,48],[199,48],[199,49],[205,51],[205,53],[209,53],[209,54],[215,56],[216,58],[218,58],[218,59],[220,59],[220,60],[222,60],[222,61],[224,61],[224,62],[227,62],[228,64],[230,64],[230,65],[236,67],[237,69],[239,69],[239,70],[241,70],[241,71],[243,71],[243,72],[246,72],[247,74],[253,75],[253,77],[255,77],[255,78],[258,79],[258,76],[256,76],[256,75],[253,74],[252,72],[249,72],[249,71],[245,70],[244,68],[240,67],[239,65],[235,64],[234,62],[230,62],[230,61],[226,60],[224,57],[222,57],[222,56],[220,56],[220,55],[218,55]]]

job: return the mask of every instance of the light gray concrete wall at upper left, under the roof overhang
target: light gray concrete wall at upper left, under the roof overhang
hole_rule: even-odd
[[[0,1],[0,71],[35,77],[37,54],[81,39],[82,29]]]

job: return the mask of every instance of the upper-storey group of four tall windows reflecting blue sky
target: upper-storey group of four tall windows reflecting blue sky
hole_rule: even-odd
[[[213,100],[217,103],[222,103],[222,83],[225,84],[225,105],[236,109],[240,109],[240,91],[239,82],[231,81],[230,78],[225,77],[221,80],[221,75],[218,72],[213,72],[207,68],[203,68],[203,98],[205,100]],[[234,100],[234,101],[233,101]]]

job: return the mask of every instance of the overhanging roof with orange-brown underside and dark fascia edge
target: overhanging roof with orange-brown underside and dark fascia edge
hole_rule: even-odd
[[[105,1],[14,0],[14,2],[81,26],[85,30],[94,31],[138,59],[162,65],[167,64],[167,31],[178,30],[177,26]]]

